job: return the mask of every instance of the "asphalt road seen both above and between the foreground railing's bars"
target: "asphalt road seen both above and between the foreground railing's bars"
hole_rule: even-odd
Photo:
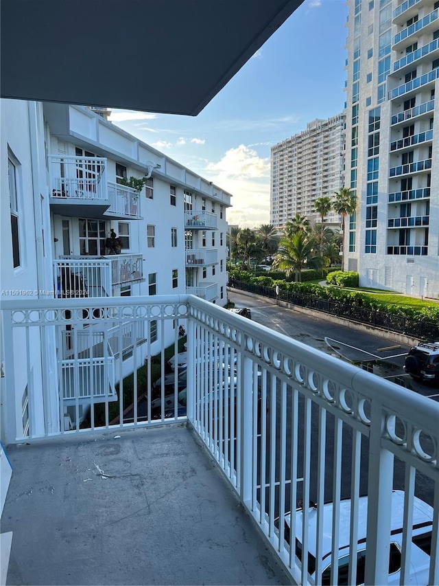
[[[318,348],[324,352],[335,354],[334,350],[329,348],[324,341],[324,337],[331,337],[337,340],[333,342],[332,346],[336,352],[341,352],[344,356],[351,359],[351,361],[361,361],[365,355],[363,352],[356,350],[366,350],[371,354],[378,355],[379,357],[385,358],[394,356],[395,354],[402,354],[399,357],[394,357],[390,361],[384,361],[383,365],[375,365],[374,372],[379,376],[395,377],[401,376],[406,381],[407,389],[412,389],[414,392],[419,392],[425,396],[431,396],[432,400],[438,401],[439,390],[434,389],[431,385],[418,383],[412,381],[409,376],[405,375],[402,366],[404,363],[404,355],[409,350],[407,346],[399,346],[392,339],[383,339],[369,333],[361,333],[353,328],[347,326],[333,324],[324,319],[324,317],[311,317],[303,313],[292,311],[286,308],[277,306],[272,300],[267,300],[264,297],[257,297],[256,295],[246,295],[243,293],[237,293],[234,289],[228,291],[228,297],[231,302],[235,303],[235,306],[248,307],[252,311],[252,319],[254,322],[259,322],[264,326],[268,326],[273,330],[281,332],[287,336],[306,343],[313,348]],[[352,347],[352,348],[351,348]],[[382,350],[383,348],[394,348],[392,350]],[[388,362],[390,364],[388,364]],[[280,438],[280,422],[279,414],[281,413],[281,392],[278,388],[276,392],[276,421],[274,422],[273,433],[270,429],[270,409],[272,404],[271,401],[271,389],[270,383],[268,383],[267,392],[267,418],[266,418],[266,429],[265,429],[265,482],[268,484],[270,478],[270,460],[275,462],[276,473],[275,477],[278,480],[278,462],[281,457],[281,438]],[[287,431],[286,431],[286,462],[290,460],[290,449],[292,439],[291,429],[291,413],[292,413],[292,394],[287,393]],[[299,399],[298,403],[299,416],[298,416],[298,455],[299,462],[297,466],[298,479],[303,477],[306,473],[304,468],[304,461],[302,460],[302,453],[305,447],[305,402],[302,398]],[[317,499],[317,484],[318,484],[318,429],[320,427],[319,412],[316,405],[311,408],[311,466],[309,469],[309,482],[310,482],[310,498],[312,501]],[[333,462],[334,462],[334,438],[335,438],[335,420],[333,416],[327,416],[327,433],[326,433],[326,448],[325,448],[325,466],[326,473],[324,477],[324,499],[326,502],[333,499]],[[342,471],[341,471],[341,496],[342,498],[350,497],[351,490],[351,469],[352,469],[352,446],[353,446],[353,431],[351,426],[343,424],[342,429]],[[259,430],[261,433],[261,430]],[[274,439],[275,447],[272,447],[272,438]],[[261,441],[261,440],[259,440]],[[271,446],[271,447],[270,447]],[[273,458],[270,457],[270,451]],[[261,458],[261,444],[259,443],[258,449],[258,460]],[[263,458],[261,460],[263,462]],[[395,459],[394,462],[394,488],[403,489],[405,480],[405,466],[401,460]],[[261,467],[263,464],[258,465],[258,477],[263,476]],[[368,438],[361,438],[361,464],[360,464],[360,482],[359,482],[359,493],[360,495],[366,495],[368,493]],[[291,473],[291,472],[290,472]],[[287,478],[291,478],[290,473],[287,472]],[[297,484],[298,497],[301,499],[302,495],[302,481],[298,480]],[[432,504],[434,487],[433,483],[424,475],[416,473],[416,496]],[[289,502],[289,487],[286,488],[286,502]],[[270,502],[270,494],[268,489],[266,490],[265,506],[268,510]],[[278,511],[278,488],[276,488],[276,494],[274,495],[274,508],[276,514]]]

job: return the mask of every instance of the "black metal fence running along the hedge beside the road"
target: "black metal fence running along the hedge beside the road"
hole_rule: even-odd
[[[229,286],[235,287],[235,289],[241,289],[242,291],[256,293],[263,297],[277,299],[276,289],[274,287],[266,287],[238,280],[231,280]],[[337,317],[344,317],[350,319],[352,322],[359,322],[360,324],[366,324],[373,328],[381,328],[389,332],[405,334],[412,338],[429,341],[439,340],[439,325],[432,322],[425,322],[421,319],[384,313],[376,309],[359,307],[335,300],[320,299],[320,297],[313,297],[313,295],[303,295],[303,293],[283,291],[283,289],[279,291],[279,300],[300,307],[322,311],[322,313],[336,315]]]

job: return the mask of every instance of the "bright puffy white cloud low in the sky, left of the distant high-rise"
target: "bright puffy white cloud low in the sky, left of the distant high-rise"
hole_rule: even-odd
[[[230,148],[217,163],[209,163],[207,170],[216,171],[224,178],[270,177],[270,159],[261,159],[256,150],[240,144],[237,148]]]

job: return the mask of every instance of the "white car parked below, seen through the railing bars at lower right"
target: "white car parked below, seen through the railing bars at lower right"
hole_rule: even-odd
[[[364,584],[364,571],[366,562],[366,519],[368,509],[368,497],[360,497],[358,502],[358,552],[357,552],[357,581],[355,584]],[[403,491],[392,493],[392,526],[389,559],[388,584],[399,584],[401,579],[401,548],[403,543]],[[302,509],[296,510],[296,556],[302,561]],[[323,506],[323,561],[322,575],[318,578],[316,572],[316,530],[317,509],[310,508],[309,512],[309,553],[308,572],[316,583],[322,586],[331,584],[331,539],[333,504]],[[340,502],[340,545],[338,564],[338,584],[348,585],[349,570],[349,523],[351,519],[351,499]],[[285,540],[290,543],[291,515],[285,515]],[[278,527],[278,519],[275,521]],[[427,503],[414,497],[413,533],[411,552],[410,584],[427,584],[429,580],[429,563],[431,549],[431,528],[433,527],[433,508]]]

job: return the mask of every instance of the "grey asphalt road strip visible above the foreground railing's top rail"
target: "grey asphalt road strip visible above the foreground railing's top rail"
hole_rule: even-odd
[[[334,324],[324,319],[324,314],[322,317],[313,317],[279,307],[274,300],[251,293],[238,293],[235,289],[229,289],[228,298],[237,307],[250,308],[254,322],[340,359],[344,357],[356,364],[366,361],[377,376],[388,378],[409,390],[439,401],[437,384],[414,381],[410,375],[405,374],[404,359],[410,346],[400,345],[391,338],[385,339],[372,333],[359,332],[342,324]],[[334,340],[331,342],[332,348],[325,343],[325,337]],[[390,350],[383,350],[383,348],[390,348]],[[379,357],[379,360],[375,361],[370,354]]]

